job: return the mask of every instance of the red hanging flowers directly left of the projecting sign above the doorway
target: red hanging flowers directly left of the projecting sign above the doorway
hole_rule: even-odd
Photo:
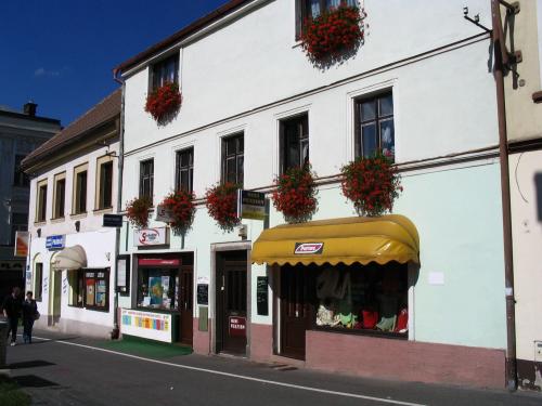
[[[237,218],[237,189],[238,185],[225,182],[208,188],[205,193],[207,210],[224,232],[231,232],[241,222]]]

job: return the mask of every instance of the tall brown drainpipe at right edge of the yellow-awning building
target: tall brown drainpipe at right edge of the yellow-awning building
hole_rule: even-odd
[[[496,87],[499,118],[499,156],[501,162],[501,191],[503,207],[504,284],[506,294],[506,387],[517,389],[516,371],[516,316],[514,299],[514,262],[512,249],[512,210],[509,196],[508,147],[506,133],[506,106],[504,100],[504,67],[508,64],[501,21],[500,0],[491,0],[492,41],[494,51],[493,76]]]

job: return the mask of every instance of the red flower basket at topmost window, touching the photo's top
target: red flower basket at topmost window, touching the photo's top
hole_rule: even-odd
[[[356,49],[363,39],[362,14],[356,6],[339,5],[315,18],[309,17],[301,34],[301,45],[307,55],[321,63]]]

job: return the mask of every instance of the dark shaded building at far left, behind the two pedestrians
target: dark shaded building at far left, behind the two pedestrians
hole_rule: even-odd
[[[25,258],[14,257],[15,232],[28,225],[29,178],[21,170],[25,156],[61,130],[60,120],[36,116],[28,102],[23,113],[0,106],[0,298],[24,285]]]

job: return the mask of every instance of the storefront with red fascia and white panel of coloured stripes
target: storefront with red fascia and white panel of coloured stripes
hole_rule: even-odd
[[[193,253],[134,258],[136,305],[121,311],[122,335],[192,345]]]

